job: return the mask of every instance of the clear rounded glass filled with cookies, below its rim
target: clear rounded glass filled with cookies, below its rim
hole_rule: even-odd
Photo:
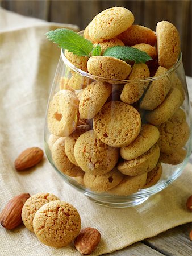
[[[162,100],[154,92],[165,83],[169,84],[169,92],[161,92],[165,93]],[[89,98],[86,96],[82,102],[83,92],[90,84],[97,92],[93,98],[88,92]],[[97,89],[98,84],[101,86]],[[142,88],[144,93],[137,96],[136,102],[122,102],[125,86],[129,91]],[[102,103],[101,94],[105,94]],[[79,100],[81,107],[86,101],[90,104],[84,117],[78,111]],[[152,130],[141,134],[141,125]],[[181,175],[191,154],[190,102],[182,55],[161,75],[117,80],[78,69],[61,50],[44,135],[45,152],[53,168],[89,199],[115,208],[143,203]]]

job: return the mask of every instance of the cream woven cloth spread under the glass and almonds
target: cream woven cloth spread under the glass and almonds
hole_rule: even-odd
[[[58,26],[0,9],[0,210],[19,193],[54,193],[77,208],[83,227],[93,226],[101,232],[101,243],[93,255],[122,249],[192,221],[185,208],[192,194],[190,164],[164,191],[127,209],[91,202],[66,184],[46,158],[29,171],[14,170],[21,151],[44,147],[45,108],[60,55],[60,49],[44,34]],[[22,225],[12,231],[0,226],[0,237],[0,255],[80,255],[73,245],[62,249],[43,245]]]

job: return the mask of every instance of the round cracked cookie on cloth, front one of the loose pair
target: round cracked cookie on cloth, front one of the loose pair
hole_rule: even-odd
[[[68,245],[80,233],[81,218],[73,205],[53,201],[37,210],[33,225],[41,243],[60,248]]]

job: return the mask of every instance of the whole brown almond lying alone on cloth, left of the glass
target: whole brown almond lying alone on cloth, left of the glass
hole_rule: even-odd
[[[26,170],[35,166],[43,158],[43,150],[39,147],[30,147],[24,150],[15,160],[15,169],[17,171]]]

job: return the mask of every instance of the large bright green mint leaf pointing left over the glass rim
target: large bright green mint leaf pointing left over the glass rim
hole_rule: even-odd
[[[78,56],[88,56],[93,50],[93,43],[85,39],[83,36],[78,35],[73,30],[66,28],[59,28],[47,32],[49,41],[58,44],[60,48],[73,52]]]

